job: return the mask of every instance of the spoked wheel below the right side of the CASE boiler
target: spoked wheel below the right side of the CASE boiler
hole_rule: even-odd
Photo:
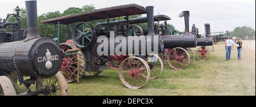
[[[36,91],[46,89],[44,96],[67,96],[68,84],[61,72],[49,79],[36,78]]]

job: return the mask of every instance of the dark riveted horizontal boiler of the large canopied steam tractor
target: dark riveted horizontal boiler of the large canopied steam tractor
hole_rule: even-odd
[[[104,37],[104,36],[102,36]],[[118,36],[120,37],[120,36]],[[151,50],[150,52],[162,52],[161,50],[161,42],[160,40],[162,40],[162,36],[159,36],[159,35],[154,35],[154,36],[126,36],[122,38],[122,40],[125,40],[120,42],[119,39],[117,40],[117,37],[114,38],[114,40],[111,40],[109,37],[105,37],[106,39],[108,39],[108,43],[105,45],[108,45],[108,54],[110,55],[114,55],[114,54],[117,54],[117,53],[110,53],[110,50],[113,50],[113,49],[119,49],[119,52],[122,52],[122,48],[120,48],[119,46],[125,46],[126,47],[126,55],[129,55],[129,54],[138,54],[138,53],[144,53],[144,54],[147,54],[147,52],[149,52],[147,50],[147,47],[150,46],[151,47]],[[156,39],[157,40],[154,40]],[[156,42],[157,41],[157,42]],[[101,52],[104,52],[104,48],[102,48],[102,43],[104,43],[104,41],[100,41],[100,42],[97,42],[97,48],[101,48]],[[117,48],[118,46],[118,48]],[[154,47],[155,46],[155,47]],[[156,49],[156,51],[154,51],[154,49]],[[130,52],[129,53],[129,49],[130,50],[133,50],[133,52]],[[115,51],[113,51],[115,52]]]

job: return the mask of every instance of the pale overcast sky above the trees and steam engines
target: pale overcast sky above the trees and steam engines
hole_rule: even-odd
[[[243,25],[255,29],[255,0],[38,0],[38,15],[60,11],[69,7],[93,4],[96,9],[136,3],[143,7],[154,6],[154,15],[170,16],[167,23],[179,30],[184,30],[184,18],[179,18],[182,11],[190,11],[189,28],[195,24],[204,34],[204,24],[210,24],[211,32],[233,31]],[[0,18],[13,13],[16,6],[25,8],[24,0],[6,0],[0,2]],[[146,16],[143,15],[143,16]]]

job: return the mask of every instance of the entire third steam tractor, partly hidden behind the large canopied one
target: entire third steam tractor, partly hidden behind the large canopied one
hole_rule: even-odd
[[[189,11],[184,11],[186,14],[184,16],[185,18],[185,26],[188,27],[188,16],[189,16]],[[183,17],[183,12],[181,12],[180,17]],[[193,62],[195,59],[195,54],[193,53],[192,49],[190,48],[195,48],[196,47],[196,37],[194,35],[189,35],[188,31],[185,33],[186,36],[184,35],[172,35],[171,29],[168,29],[167,27],[167,20],[171,20],[170,17],[167,15],[155,15],[154,16],[154,22],[157,22],[154,24],[154,33],[156,35],[162,35],[163,37],[163,48],[167,49],[168,52],[164,53],[159,53],[159,56],[162,58],[164,61],[164,57],[170,53],[169,57],[167,57],[169,65],[175,69],[175,70],[181,70],[184,69],[187,65]],[[160,21],[164,21],[163,23],[159,23]],[[138,24],[138,23],[145,23],[147,22],[147,16],[142,17],[142,18],[132,18],[128,20],[115,20],[113,22],[110,22],[111,24],[118,24],[118,23],[127,23],[129,22],[130,24]],[[97,25],[106,25],[108,24],[107,22],[103,23],[97,23]],[[135,26],[135,25],[132,25]],[[137,25],[137,35],[147,35],[147,29],[141,28]],[[188,28],[187,28],[188,29]],[[185,41],[184,41],[185,40]],[[172,50],[173,49],[173,50]],[[172,51],[171,51],[172,50]],[[174,54],[174,52],[176,54]],[[182,54],[181,54],[182,53]],[[191,56],[191,57],[189,57]],[[121,63],[123,59],[127,58],[129,56],[114,56],[112,59],[113,62],[116,63]],[[112,65],[109,63],[109,65]],[[113,69],[118,68],[118,66],[112,67]]]

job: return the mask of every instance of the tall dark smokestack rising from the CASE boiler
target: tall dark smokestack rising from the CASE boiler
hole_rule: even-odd
[[[38,33],[38,10],[36,1],[25,1],[26,11],[27,11],[27,37],[26,40],[31,40],[32,38],[39,38]]]

